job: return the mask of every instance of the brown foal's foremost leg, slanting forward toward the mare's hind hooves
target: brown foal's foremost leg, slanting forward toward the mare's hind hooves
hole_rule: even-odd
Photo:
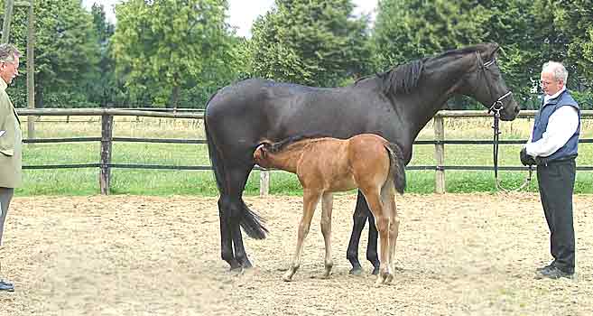
[[[299,236],[297,238],[297,248],[296,252],[294,253],[294,257],[292,258],[292,265],[284,274],[283,280],[286,282],[292,281],[292,275],[294,275],[299,266],[301,266],[301,252],[302,252],[302,244],[309,234],[310,228],[310,220],[313,218],[313,213],[315,213],[315,208],[317,207],[317,203],[320,201],[321,193],[320,191],[310,191],[305,189],[303,191],[302,197],[302,218],[301,223],[299,224]]]

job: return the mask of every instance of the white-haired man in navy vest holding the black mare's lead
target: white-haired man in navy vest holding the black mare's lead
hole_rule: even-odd
[[[580,109],[566,89],[568,71],[560,62],[542,67],[545,93],[535,117],[533,132],[521,151],[521,162],[537,164],[537,181],[543,212],[550,228],[550,265],[537,269],[537,278],[572,277],[575,270],[575,237],[572,192],[576,176]]]

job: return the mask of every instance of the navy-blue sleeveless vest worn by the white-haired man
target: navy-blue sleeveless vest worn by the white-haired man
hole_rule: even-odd
[[[552,98],[548,100],[548,103],[543,104],[540,107],[540,111],[535,116],[535,124],[533,125],[533,134],[532,134],[532,142],[537,142],[542,139],[543,133],[546,131],[548,127],[548,121],[550,120],[550,116],[559,108],[569,106],[574,107],[577,109],[577,114],[579,115],[579,125],[577,126],[577,131],[570,136],[570,139],[566,144],[564,144],[559,150],[552,153],[548,157],[546,157],[547,162],[552,162],[555,160],[563,160],[568,159],[571,157],[576,157],[578,153],[578,145],[579,145],[579,134],[580,134],[580,109],[579,104],[577,101],[570,96],[569,90],[564,90],[560,96],[556,98]]]

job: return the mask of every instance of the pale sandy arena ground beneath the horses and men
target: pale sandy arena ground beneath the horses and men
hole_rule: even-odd
[[[399,197],[394,283],[352,276],[346,248],[356,197],[334,202],[334,270],[323,271],[320,209],[301,269],[282,281],[296,243],[297,197],[247,198],[267,218],[246,238],[255,268],[219,258],[214,198],[16,198],[0,250],[14,293],[2,315],[591,315],[593,196],[575,198],[577,277],[534,280],[548,232],[539,199],[521,195]],[[364,232],[366,236],[366,230]],[[360,253],[365,258],[366,238]]]

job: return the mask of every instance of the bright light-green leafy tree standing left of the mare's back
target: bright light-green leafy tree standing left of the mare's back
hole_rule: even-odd
[[[226,0],[131,0],[116,5],[116,71],[133,98],[177,107],[181,89],[227,45]]]

